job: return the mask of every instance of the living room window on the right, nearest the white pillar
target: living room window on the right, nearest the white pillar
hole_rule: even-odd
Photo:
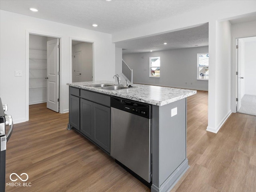
[[[209,79],[209,54],[208,53],[197,54],[197,79],[198,80]]]

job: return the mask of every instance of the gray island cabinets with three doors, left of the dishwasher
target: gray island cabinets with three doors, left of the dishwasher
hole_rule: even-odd
[[[110,153],[110,96],[70,87],[69,124]]]

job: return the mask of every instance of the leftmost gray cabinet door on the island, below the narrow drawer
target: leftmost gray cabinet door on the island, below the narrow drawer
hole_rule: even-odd
[[[80,130],[80,98],[69,96],[69,124]]]

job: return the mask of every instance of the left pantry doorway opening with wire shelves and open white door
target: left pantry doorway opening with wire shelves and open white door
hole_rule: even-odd
[[[29,105],[59,112],[60,38],[29,34]]]

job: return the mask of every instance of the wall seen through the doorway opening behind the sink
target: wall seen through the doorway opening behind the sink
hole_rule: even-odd
[[[82,52],[81,82],[92,81],[93,76],[93,43],[82,42],[72,46],[72,55]],[[74,66],[73,66],[74,67]],[[72,70],[74,72],[74,70]]]

